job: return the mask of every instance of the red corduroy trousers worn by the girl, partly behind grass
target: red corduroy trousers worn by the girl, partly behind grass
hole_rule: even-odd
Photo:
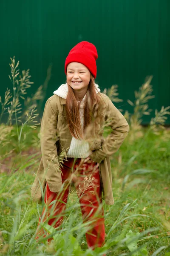
[[[83,161],[80,158],[76,160],[67,158],[62,166],[62,192],[51,192],[46,183],[44,197],[46,207],[42,210],[39,222],[48,221],[48,224],[54,228],[59,227],[63,221],[71,181],[77,190],[83,222],[92,221],[86,233],[88,248],[102,247],[105,243],[105,225],[99,168],[96,168],[96,163],[91,160]],[[38,224],[36,239],[40,236],[45,236],[45,233]]]

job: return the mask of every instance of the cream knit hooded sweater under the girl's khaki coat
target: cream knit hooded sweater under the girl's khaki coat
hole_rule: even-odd
[[[99,85],[96,84],[96,93],[100,91],[98,88]],[[68,94],[68,84],[62,84],[57,90],[54,91],[54,94],[58,95],[59,97],[62,97],[63,99],[67,98]],[[82,99],[80,103],[80,109],[79,109],[79,115],[80,115],[80,121],[81,125],[83,127],[84,124],[84,102],[85,97]],[[77,102],[78,103],[78,102]],[[85,158],[88,157],[90,154],[89,152],[89,145],[84,140],[77,140],[76,138],[72,137],[71,145],[67,153],[67,157],[75,157],[75,158]]]

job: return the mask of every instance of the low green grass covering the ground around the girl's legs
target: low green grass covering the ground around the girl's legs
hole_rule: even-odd
[[[145,132],[147,128],[144,129]],[[0,173],[0,255],[51,255],[50,250],[53,250],[45,241],[44,244],[36,244],[34,239],[42,206],[31,201],[30,188],[34,181],[33,173],[37,171],[40,160],[40,149],[32,148],[30,138],[33,138],[33,134],[30,134],[28,143],[25,143],[24,154],[15,150],[13,156],[3,160],[8,170],[14,171],[6,172],[1,169],[3,172]],[[17,143],[15,137],[12,141]],[[29,156],[30,152],[38,154]],[[107,255],[130,253],[130,246],[123,240],[130,234],[130,230],[134,233],[134,241],[137,233],[141,234],[136,238],[138,248],[142,245],[147,247],[145,254],[141,252],[131,255],[152,255],[154,252],[155,255],[166,255],[164,253],[170,250],[169,141],[166,137],[164,140],[163,132],[161,135],[150,132],[145,139],[137,138],[132,143],[127,137],[119,151],[113,155],[111,166],[115,204],[108,206],[104,203],[105,230],[108,234],[105,246]],[[142,171],[132,175],[136,169]],[[154,172],[150,172],[151,170]],[[57,231],[61,233],[61,241],[62,237],[65,239],[69,235],[74,236],[84,252],[83,255],[102,255],[87,250],[85,229],[75,194],[69,197],[62,228],[62,232]],[[57,244],[58,240],[55,242]],[[74,246],[77,245],[73,242],[72,247]],[[159,248],[160,252],[156,253]],[[74,254],[67,254],[71,249],[63,250],[63,254],[53,251],[53,255],[82,255],[80,251],[76,254],[76,249]]]

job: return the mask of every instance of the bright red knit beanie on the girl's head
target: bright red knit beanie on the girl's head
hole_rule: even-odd
[[[85,65],[91,74],[96,78],[97,67],[96,59],[98,58],[97,50],[94,44],[82,41],[71,49],[65,60],[65,74],[67,74],[67,66],[71,62],[79,62]]]

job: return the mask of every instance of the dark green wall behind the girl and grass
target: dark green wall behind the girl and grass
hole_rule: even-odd
[[[0,95],[11,86],[8,63],[15,55],[20,69],[31,70],[34,85],[28,95],[53,64],[47,99],[65,82],[69,50],[90,41],[99,55],[96,82],[102,89],[119,85],[124,102],[116,107],[131,111],[126,100],[133,101],[134,90],[153,75],[156,97],[150,108],[160,110],[170,105],[169,13],[169,0],[1,0]],[[146,116],[143,123],[149,120]]]

